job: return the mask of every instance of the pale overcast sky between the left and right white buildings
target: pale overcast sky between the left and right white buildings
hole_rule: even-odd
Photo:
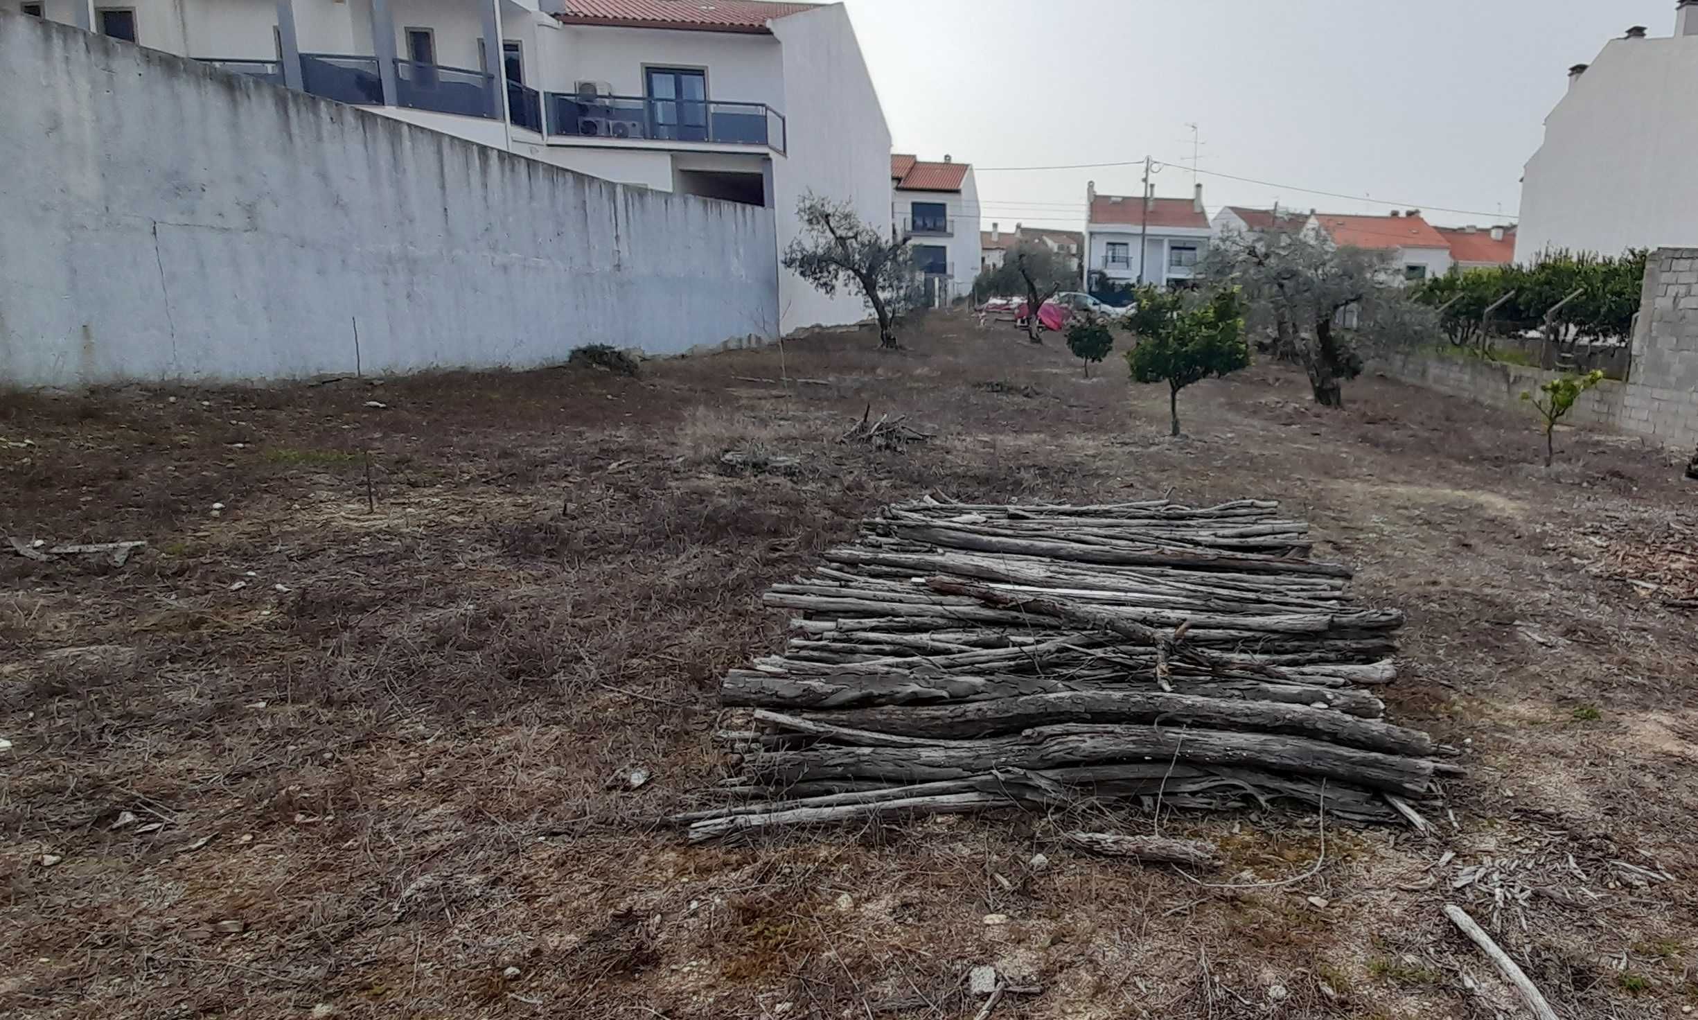
[[[1323,212],[1515,219],[1567,68],[1674,0],[846,0],[898,153],[973,163],[980,219],[1080,227],[1085,182]],[[1313,195],[1296,188],[1355,199]],[[1369,195],[1363,200],[1360,195]],[[1460,212],[1445,212],[1450,207]]]

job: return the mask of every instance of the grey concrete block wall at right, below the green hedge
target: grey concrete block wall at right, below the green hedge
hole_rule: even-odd
[[[1472,358],[1404,355],[1374,368],[1414,385],[1493,407],[1520,407],[1523,392],[1555,372]],[[1527,411],[1532,418],[1532,411]],[[1698,248],[1661,248],[1647,260],[1628,380],[1605,380],[1562,419],[1691,453],[1698,446]]]

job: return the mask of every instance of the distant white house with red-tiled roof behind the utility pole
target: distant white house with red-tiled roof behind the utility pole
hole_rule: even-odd
[[[1088,270],[1117,283],[1168,287],[1195,275],[1209,246],[1209,214],[1202,185],[1190,199],[1099,195],[1085,187],[1085,249]]]

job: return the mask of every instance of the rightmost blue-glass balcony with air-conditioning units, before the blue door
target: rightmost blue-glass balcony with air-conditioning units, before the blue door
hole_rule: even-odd
[[[766,146],[784,153],[784,115],[766,104],[548,92],[548,137]]]

